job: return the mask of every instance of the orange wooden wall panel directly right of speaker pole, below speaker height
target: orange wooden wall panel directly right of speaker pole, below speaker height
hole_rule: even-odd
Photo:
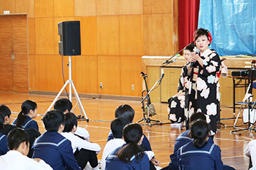
[[[76,57],[78,93],[99,94],[100,83],[98,83],[97,55]]]

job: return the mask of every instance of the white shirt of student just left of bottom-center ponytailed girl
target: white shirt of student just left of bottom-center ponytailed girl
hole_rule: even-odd
[[[107,155],[109,155],[117,147],[122,147],[122,145],[124,145],[124,144],[125,144],[124,140],[122,140],[120,138],[114,138],[113,140],[109,140],[109,142],[107,142],[107,144],[105,145],[105,148],[103,150],[102,160],[100,162],[102,170],[105,170],[105,166],[106,166],[105,159],[107,158]]]

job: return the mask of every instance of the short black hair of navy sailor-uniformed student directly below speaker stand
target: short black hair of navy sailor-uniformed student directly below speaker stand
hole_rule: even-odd
[[[58,132],[60,125],[65,125],[65,115],[62,111],[52,110],[43,116],[43,125],[49,132]]]

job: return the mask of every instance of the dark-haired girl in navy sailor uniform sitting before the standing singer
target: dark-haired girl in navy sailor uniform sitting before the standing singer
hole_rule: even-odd
[[[206,121],[197,120],[191,125],[193,140],[178,149],[179,169],[223,170],[220,147],[208,142],[209,132]]]

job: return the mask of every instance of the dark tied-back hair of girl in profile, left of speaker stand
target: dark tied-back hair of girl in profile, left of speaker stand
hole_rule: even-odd
[[[18,128],[21,128],[22,125],[26,121],[26,116],[25,115],[27,115],[29,113],[29,111],[31,111],[31,110],[35,111],[36,108],[37,108],[36,102],[31,101],[31,100],[23,101],[23,103],[21,105],[21,112],[18,113],[16,126]]]

